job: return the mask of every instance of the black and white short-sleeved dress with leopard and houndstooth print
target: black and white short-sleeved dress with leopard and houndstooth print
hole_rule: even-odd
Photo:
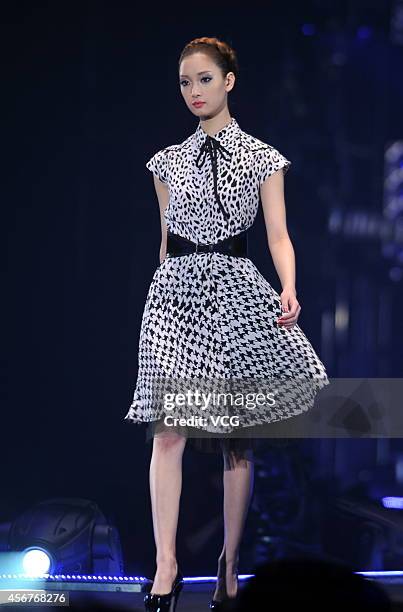
[[[291,162],[274,147],[244,132],[236,119],[210,137],[201,127],[180,144],[155,153],[146,166],[169,188],[168,230],[188,240],[215,243],[250,228],[263,181]],[[329,384],[323,363],[302,329],[276,320],[279,294],[251,259],[221,253],[167,257],[148,290],[139,342],[133,401],[124,417],[148,423],[147,440],[166,429],[161,406],[153,402],[153,379],[263,378],[292,375],[314,381],[314,392],[280,409],[249,411],[250,432],[301,414],[313,405],[317,389]],[[173,430],[175,428],[168,427]],[[180,433],[191,428],[180,428]],[[217,431],[217,430],[215,430]],[[198,450],[244,449],[250,437],[215,434],[193,438]]]

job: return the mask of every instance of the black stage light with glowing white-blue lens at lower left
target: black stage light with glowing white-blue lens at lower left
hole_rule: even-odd
[[[48,499],[0,524],[0,551],[27,575],[124,574],[118,531],[87,499]]]

